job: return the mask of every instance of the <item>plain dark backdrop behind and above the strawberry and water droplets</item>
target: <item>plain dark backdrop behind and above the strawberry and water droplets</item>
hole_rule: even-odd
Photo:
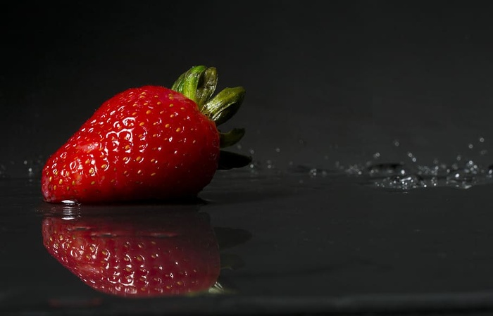
[[[331,169],[375,153],[488,164],[491,9],[480,1],[8,4],[0,175],[36,175],[113,94],[169,87],[197,64],[218,68],[220,87],[245,87],[228,127],[246,127],[237,150],[264,165]]]

